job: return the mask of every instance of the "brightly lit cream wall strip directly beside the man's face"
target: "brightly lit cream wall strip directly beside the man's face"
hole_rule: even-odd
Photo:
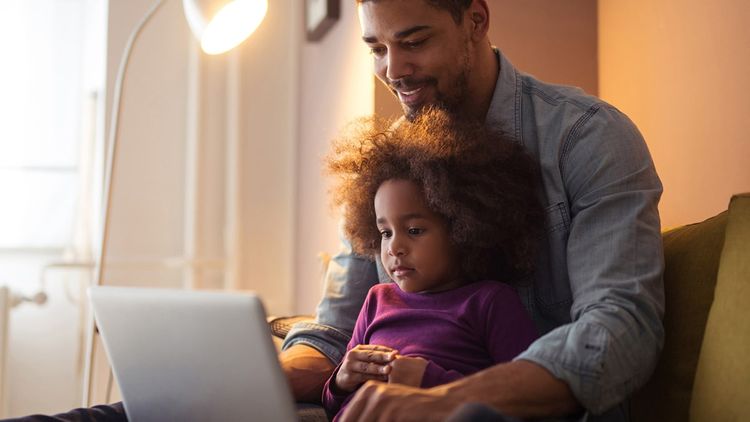
[[[323,289],[319,254],[338,247],[320,159],[347,122],[373,112],[373,80],[353,0],[341,0],[341,17],[323,40],[300,42],[294,298],[296,312],[312,313]]]

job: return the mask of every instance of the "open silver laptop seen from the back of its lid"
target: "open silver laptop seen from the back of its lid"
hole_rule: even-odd
[[[256,295],[128,287],[88,294],[130,421],[297,420]]]

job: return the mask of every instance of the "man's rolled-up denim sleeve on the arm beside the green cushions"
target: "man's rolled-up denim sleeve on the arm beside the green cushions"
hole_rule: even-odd
[[[642,136],[610,106],[592,107],[561,151],[573,322],[518,359],[548,369],[600,414],[648,380],[663,345],[662,186]]]

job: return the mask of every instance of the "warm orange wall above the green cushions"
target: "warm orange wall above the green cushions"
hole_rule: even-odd
[[[750,191],[749,21],[744,0],[599,2],[600,93],[648,142],[664,227]]]

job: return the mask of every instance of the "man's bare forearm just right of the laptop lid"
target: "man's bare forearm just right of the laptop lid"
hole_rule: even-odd
[[[301,402],[320,403],[320,397],[334,365],[318,350],[295,344],[279,354],[294,399]]]

